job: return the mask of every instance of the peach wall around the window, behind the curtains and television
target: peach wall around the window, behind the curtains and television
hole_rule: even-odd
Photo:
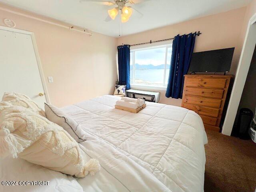
[[[230,74],[235,74],[242,48],[239,38],[245,12],[246,7],[243,7],[138,34],[123,36],[118,38],[118,45],[168,39],[177,34],[188,34],[200,30],[202,34],[196,38],[194,52],[235,47],[230,69]],[[158,92],[160,92],[161,103],[181,106],[180,99],[166,98],[165,91]]]

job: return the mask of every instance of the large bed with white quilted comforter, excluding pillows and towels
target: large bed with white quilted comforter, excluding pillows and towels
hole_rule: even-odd
[[[106,95],[62,108],[86,132],[87,140],[79,143],[80,148],[84,158],[99,160],[100,172],[73,178],[18,159],[31,173],[22,180],[50,180],[47,188],[56,187],[58,182],[66,186],[58,191],[204,191],[204,144],[208,141],[200,116],[185,108],[153,102],[133,114],[114,108],[119,99]],[[10,173],[4,164],[11,162],[1,162],[1,180],[12,179],[3,175],[4,171],[20,173],[16,169]],[[34,170],[44,174],[33,178]],[[40,187],[30,186],[25,191],[40,191]],[[0,186],[0,191],[11,189]]]

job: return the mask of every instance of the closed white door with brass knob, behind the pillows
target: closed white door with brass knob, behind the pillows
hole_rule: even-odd
[[[8,91],[46,102],[31,35],[0,29],[0,98]]]

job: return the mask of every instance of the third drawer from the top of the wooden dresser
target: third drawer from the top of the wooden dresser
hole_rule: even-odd
[[[196,104],[196,105],[201,105],[201,106],[220,108],[221,100],[220,99],[194,97],[194,96],[185,95],[184,103],[190,103],[190,104]]]

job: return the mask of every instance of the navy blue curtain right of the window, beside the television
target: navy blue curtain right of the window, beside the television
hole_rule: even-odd
[[[166,97],[182,98],[184,75],[190,66],[195,39],[196,33],[177,35],[174,38]]]

